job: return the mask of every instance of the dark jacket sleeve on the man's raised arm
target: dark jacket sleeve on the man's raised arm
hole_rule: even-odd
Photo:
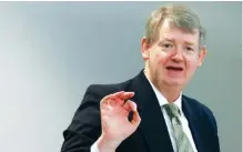
[[[63,132],[61,152],[90,152],[101,134],[100,100],[103,98],[97,85],[90,85],[74,113],[69,128]]]

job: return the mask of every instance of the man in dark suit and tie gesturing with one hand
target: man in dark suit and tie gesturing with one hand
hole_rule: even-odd
[[[203,63],[204,39],[193,11],[154,11],[141,42],[144,70],[122,83],[90,85],[61,151],[220,152],[213,113],[182,94]]]

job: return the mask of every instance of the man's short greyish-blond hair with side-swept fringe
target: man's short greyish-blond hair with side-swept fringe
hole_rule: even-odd
[[[161,24],[163,24],[164,19],[170,19],[170,22],[173,26],[182,28],[191,33],[193,33],[195,29],[199,30],[200,47],[205,45],[206,31],[202,27],[198,14],[193,10],[180,4],[168,4],[152,12],[145,27],[148,44],[152,44],[155,40],[158,40],[159,30]]]

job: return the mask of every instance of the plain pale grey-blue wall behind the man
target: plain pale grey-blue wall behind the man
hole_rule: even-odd
[[[87,87],[134,77],[140,40],[164,2],[0,2],[0,151],[55,152]],[[241,2],[180,2],[207,29],[185,94],[209,105],[222,152],[241,151]]]

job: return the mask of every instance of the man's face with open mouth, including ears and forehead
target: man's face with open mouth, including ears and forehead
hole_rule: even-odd
[[[172,27],[165,19],[152,45],[143,39],[142,55],[145,73],[155,85],[184,87],[201,65],[205,49],[199,50],[198,30],[190,33]]]

